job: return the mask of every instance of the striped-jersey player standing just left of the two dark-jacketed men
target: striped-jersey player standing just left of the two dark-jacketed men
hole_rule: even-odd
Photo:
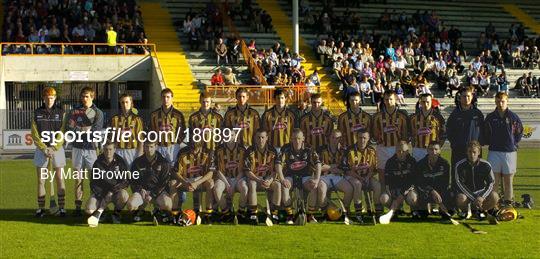
[[[419,109],[409,117],[412,155],[416,161],[427,155],[429,143],[436,141],[442,146],[446,138],[444,118],[438,109],[431,107],[432,99],[433,96],[429,93],[421,94],[418,100]]]

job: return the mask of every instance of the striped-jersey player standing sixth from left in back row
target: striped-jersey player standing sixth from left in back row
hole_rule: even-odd
[[[260,127],[259,113],[251,108],[247,101],[249,99],[246,88],[236,90],[236,106],[229,108],[225,113],[225,127],[240,128],[240,143],[248,148],[253,144],[253,134]]]

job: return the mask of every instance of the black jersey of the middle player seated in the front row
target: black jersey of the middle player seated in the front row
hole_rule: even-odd
[[[281,149],[277,163],[283,166],[285,177],[312,176],[321,160],[319,154],[312,147],[304,146],[300,150],[294,150],[292,144],[287,144]]]

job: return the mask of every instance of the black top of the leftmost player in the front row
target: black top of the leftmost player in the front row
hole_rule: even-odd
[[[100,170],[104,171],[120,172],[128,170],[124,159],[117,154],[114,154],[113,161],[110,164],[107,164],[107,159],[103,154],[99,155],[96,162],[94,162],[94,166],[92,166],[92,169],[93,168],[99,168]],[[118,174],[112,178],[107,177],[107,174],[100,174],[102,177],[94,179],[94,173],[92,170],[90,175],[92,176],[90,178],[90,189],[92,190],[92,194],[94,194],[94,196],[97,198],[107,195],[108,192],[115,193],[125,189],[129,185],[129,182],[124,174]]]

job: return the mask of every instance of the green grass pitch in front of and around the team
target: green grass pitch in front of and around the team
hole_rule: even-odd
[[[448,152],[445,152],[448,157]],[[48,184],[47,184],[48,186]],[[66,203],[73,207],[73,182]],[[85,196],[88,195],[88,186]],[[474,235],[463,226],[402,219],[390,225],[345,226],[151,226],[100,224],[84,218],[33,216],[36,175],[31,160],[0,161],[0,257],[540,257],[540,211],[519,209],[525,217]],[[515,193],[540,199],[540,150],[520,150]],[[48,201],[48,198],[47,198]],[[537,205],[538,207],[538,205]],[[127,216],[124,216],[127,221]]]

